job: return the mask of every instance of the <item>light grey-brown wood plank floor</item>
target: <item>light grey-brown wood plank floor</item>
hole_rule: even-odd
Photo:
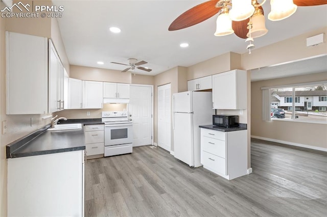
[[[251,167],[228,181],[150,146],[88,160],[85,216],[326,216],[325,152],[252,139]]]

